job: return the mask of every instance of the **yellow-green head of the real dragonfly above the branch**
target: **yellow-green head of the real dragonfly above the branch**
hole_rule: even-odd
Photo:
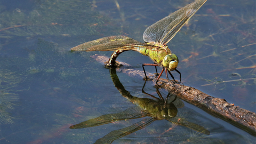
[[[179,59],[174,53],[165,55],[163,59],[163,66],[170,71],[175,70],[178,66],[178,63]]]

